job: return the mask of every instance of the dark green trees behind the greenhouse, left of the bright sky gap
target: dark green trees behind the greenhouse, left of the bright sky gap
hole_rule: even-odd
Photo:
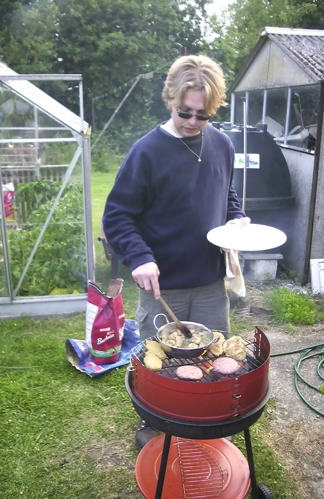
[[[17,72],[81,73],[85,117],[90,120],[91,99],[104,95],[96,101],[96,119],[103,123],[125,94],[125,83],[158,68],[165,72],[178,55],[175,42],[188,53],[197,51],[206,0],[197,1],[43,0],[24,7],[16,2],[0,31],[0,56]],[[124,121],[147,115],[151,106],[160,112],[155,101],[160,86],[159,78],[141,81],[127,101],[127,113],[122,108]],[[73,86],[42,88],[78,110]]]

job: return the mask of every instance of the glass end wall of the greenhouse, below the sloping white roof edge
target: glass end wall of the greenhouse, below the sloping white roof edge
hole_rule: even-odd
[[[3,103],[6,105],[1,108]],[[15,290],[78,144],[70,130],[60,130],[59,122],[41,111],[35,112],[33,106],[11,92],[0,93],[0,112],[0,138],[9,139],[6,144],[0,144],[2,181],[11,184],[14,190],[13,221],[6,223],[6,234]],[[11,129],[3,130],[4,127]],[[35,128],[44,142],[37,144],[27,140],[35,137]],[[73,139],[73,142],[50,142],[53,138]],[[16,296],[80,293],[85,292],[85,284],[83,182],[79,158]]]

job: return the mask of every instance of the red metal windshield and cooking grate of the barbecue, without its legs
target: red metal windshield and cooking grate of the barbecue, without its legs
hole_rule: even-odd
[[[222,334],[225,339],[232,336]],[[153,411],[183,421],[221,421],[249,412],[268,390],[270,344],[258,328],[245,341],[246,360],[240,361],[240,369],[228,376],[213,370],[216,357],[209,351],[196,358],[168,357],[160,372],[149,371],[143,361],[145,343],[139,343],[131,354],[133,393]],[[198,382],[180,380],[175,370],[181,365],[197,365],[204,376]]]

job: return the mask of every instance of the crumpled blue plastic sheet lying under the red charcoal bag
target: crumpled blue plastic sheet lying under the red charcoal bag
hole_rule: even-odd
[[[70,364],[72,364],[72,366],[74,366],[78,371],[84,372],[88,376],[93,378],[107,371],[110,371],[111,369],[116,369],[116,367],[129,364],[131,351],[136,345],[138,345],[138,343],[140,343],[140,341],[141,340],[138,334],[137,322],[135,320],[126,319],[124,337],[118,362],[115,362],[114,364],[103,364],[101,366],[97,366],[92,361],[85,340],[66,340],[66,357]]]

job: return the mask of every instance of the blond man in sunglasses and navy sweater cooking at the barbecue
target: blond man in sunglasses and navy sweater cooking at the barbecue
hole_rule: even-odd
[[[171,117],[130,150],[107,198],[103,228],[139,286],[136,318],[141,340],[155,334],[159,298],[179,320],[229,331],[229,300],[220,249],[211,229],[244,219],[232,187],[234,147],[208,121],[225,106],[220,67],[206,56],[171,66],[162,92]],[[161,324],[162,325],[162,324]],[[157,433],[140,421],[136,443]]]

